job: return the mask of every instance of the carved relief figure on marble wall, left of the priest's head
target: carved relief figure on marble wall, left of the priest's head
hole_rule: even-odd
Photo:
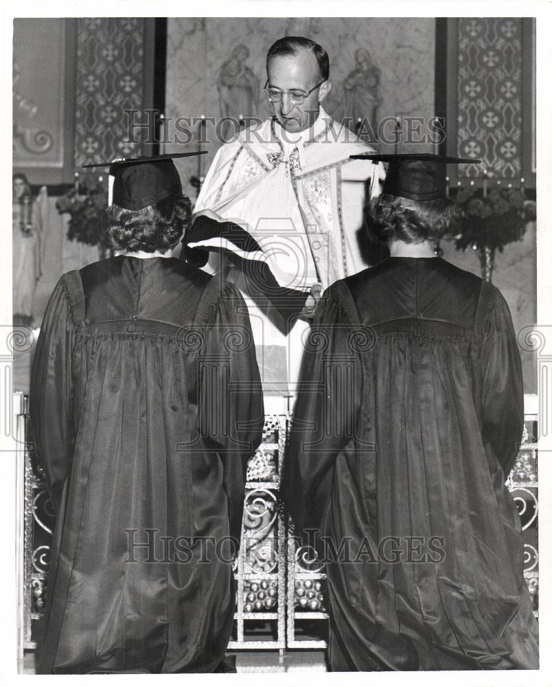
[[[259,82],[253,71],[246,65],[249,58],[249,48],[246,45],[236,45],[218,72],[218,94],[220,98],[220,113],[222,117],[231,117],[240,121],[257,113],[259,97]],[[222,135],[225,139],[237,133],[237,128],[231,122],[225,122]]]

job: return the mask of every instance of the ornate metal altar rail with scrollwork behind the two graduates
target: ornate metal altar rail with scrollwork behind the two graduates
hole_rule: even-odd
[[[534,400],[534,397],[533,397]],[[526,407],[528,407],[526,399]],[[34,623],[43,613],[55,513],[27,442],[28,396],[14,394],[17,440],[19,657],[36,649]],[[529,409],[529,407],[528,407]],[[296,548],[278,491],[290,419],[266,416],[263,442],[249,461],[242,545],[235,561],[234,627],[229,649],[313,649],[326,646],[325,572]],[[525,534],[525,578],[538,616],[537,416],[525,432],[508,486]]]

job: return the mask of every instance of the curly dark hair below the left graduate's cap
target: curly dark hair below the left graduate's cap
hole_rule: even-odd
[[[165,253],[176,246],[189,227],[192,204],[186,196],[178,193],[141,210],[110,205],[106,215],[106,244],[109,248]]]

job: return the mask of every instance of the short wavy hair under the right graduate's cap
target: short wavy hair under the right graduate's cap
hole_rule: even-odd
[[[447,198],[413,201],[384,193],[365,207],[365,224],[369,238],[377,243],[422,243],[453,234],[459,214]]]

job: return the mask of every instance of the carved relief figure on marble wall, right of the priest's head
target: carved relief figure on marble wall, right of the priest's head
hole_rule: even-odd
[[[375,133],[378,128],[378,107],[382,103],[380,96],[381,72],[374,65],[370,53],[359,47],[354,58],[355,68],[343,82],[345,91],[345,117],[352,119],[352,126],[365,117]]]

